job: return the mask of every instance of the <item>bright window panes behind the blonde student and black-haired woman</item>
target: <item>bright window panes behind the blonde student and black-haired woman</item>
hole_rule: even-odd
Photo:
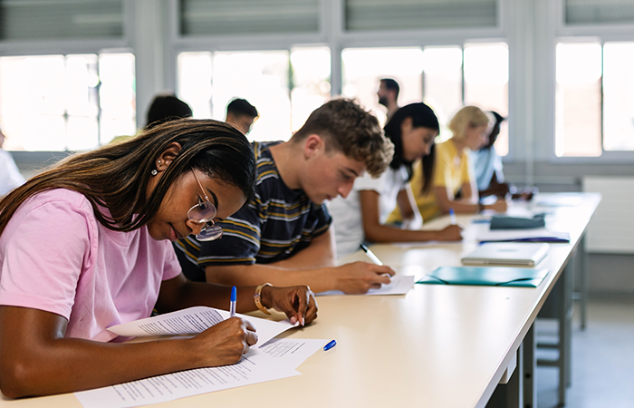
[[[345,49],[343,94],[357,98],[385,122],[379,105],[379,79],[400,85],[399,105],[426,102],[440,121],[440,140],[451,137],[447,123],[465,105],[508,116],[508,46],[504,43],[427,46],[421,48]],[[495,142],[498,154],[508,154],[508,125],[503,122]]]

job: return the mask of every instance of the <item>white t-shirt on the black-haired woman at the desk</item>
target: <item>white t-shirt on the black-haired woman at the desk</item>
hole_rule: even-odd
[[[335,239],[337,242],[337,257],[343,257],[359,249],[365,240],[359,191],[373,190],[379,193],[379,221],[385,223],[389,214],[397,206],[397,196],[407,183],[407,170],[388,168],[378,179],[372,179],[366,173],[354,181],[348,198],[337,197],[328,203],[332,217]]]

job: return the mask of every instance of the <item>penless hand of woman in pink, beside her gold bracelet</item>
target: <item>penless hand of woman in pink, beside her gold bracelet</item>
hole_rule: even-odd
[[[270,287],[262,288],[262,303],[283,312],[294,325],[308,325],[317,317],[317,302],[310,287]]]

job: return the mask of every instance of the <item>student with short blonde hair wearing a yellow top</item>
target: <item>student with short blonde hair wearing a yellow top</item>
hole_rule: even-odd
[[[479,204],[476,178],[470,170],[468,150],[475,151],[485,145],[488,125],[488,116],[476,106],[462,108],[449,121],[447,127],[453,136],[436,145],[431,192],[422,193],[422,165],[418,164],[415,168],[411,186],[424,220],[448,214],[449,209],[463,214],[473,214],[482,209],[506,210],[504,199],[498,199],[493,204]]]

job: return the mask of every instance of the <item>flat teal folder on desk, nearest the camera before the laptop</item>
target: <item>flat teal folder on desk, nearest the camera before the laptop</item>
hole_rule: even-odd
[[[526,267],[438,267],[419,284],[474,285],[487,287],[537,287],[548,269]]]

